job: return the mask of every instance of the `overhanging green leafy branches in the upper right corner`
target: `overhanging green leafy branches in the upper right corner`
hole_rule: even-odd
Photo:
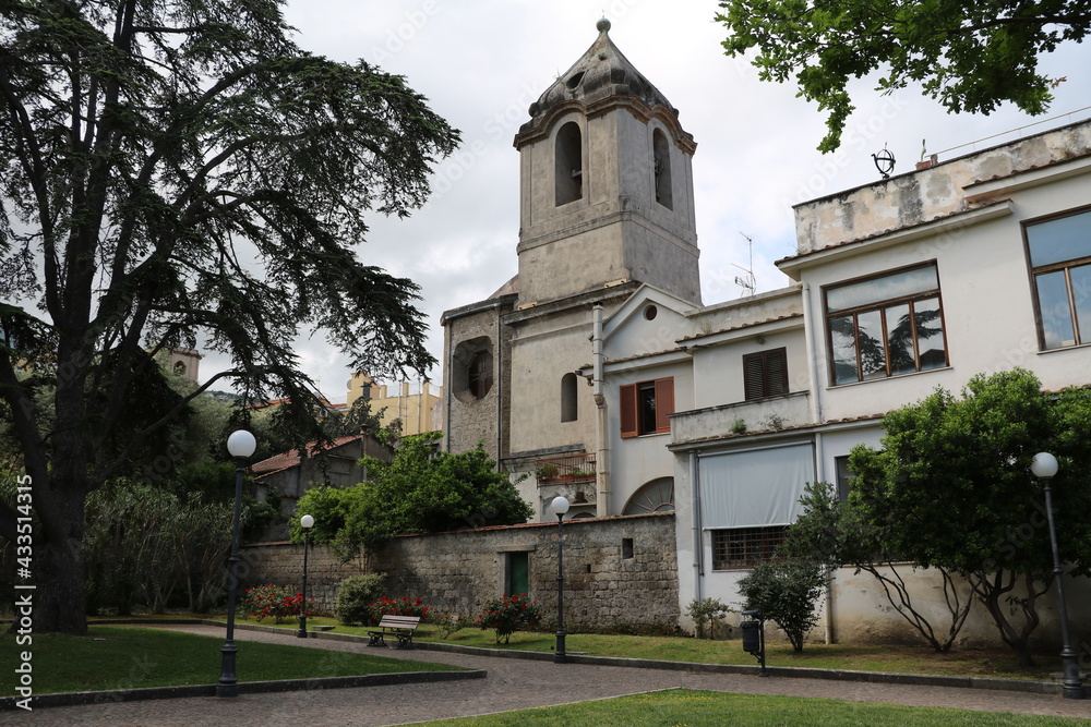
[[[729,56],[756,48],[763,81],[794,75],[799,95],[828,113],[823,152],[841,143],[854,108],[849,82],[873,71],[884,74],[878,90],[920,83],[951,112],[990,113],[1011,101],[1042,113],[1064,78],[1040,73],[1039,57],[1081,41],[1091,27],[1084,0],[720,0],[720,8]]]

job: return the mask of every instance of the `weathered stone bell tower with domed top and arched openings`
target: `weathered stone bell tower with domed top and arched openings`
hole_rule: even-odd
[[[519,305],[619,281],[700,303],[696,143],[610,39],[610,21],[530,106],[520,154]]]

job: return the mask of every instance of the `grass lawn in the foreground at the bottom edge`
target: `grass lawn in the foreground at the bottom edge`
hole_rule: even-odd
[[[524,725],[596,725],[630,727],[721,727],[722,725],[823,725],[848,727],[1075,727],[1087,720],[1070,717],[994,714],[938,707],[908,707],[826,699],[758,696],[692,690],[669,690],[555,707],[519,710],[485,717],[422,723],[449,727],[523,727]]]

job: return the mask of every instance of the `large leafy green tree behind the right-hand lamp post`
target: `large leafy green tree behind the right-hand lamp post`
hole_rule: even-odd
[[[884,548],[964,577],[1000,639],[1031,664],[1038,598],[1053,554],[1035,453],[1060,462],[1054,502],[1069,572],[1091,573],[1091,395],[1045,395],[1030,372],[973,377],[956,398],[937,389],[883,420],[883,450],[856,447],[853,507]],[[1077,427],[1077,428],[1074,428]]]

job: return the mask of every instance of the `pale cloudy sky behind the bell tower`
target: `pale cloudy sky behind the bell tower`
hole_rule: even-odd
[[[1080,110],[1091,106],[1089,48],[1075,45],[1044,60],[1046,73],[1067,77],[1045,117],[1014,108],[949,116],[915,89],[882,96],[872,90],[874,78],[863,80],[841,150],[822,155],[815,147],[825,117],[793,86],[762,82],[745,60],[726,57],[716,11],[715,1],[693,0],[289,0],[288,21],[304,49],[405,75],[463,132],[463,148],[436,169],[430,202],[409,219],[376,216],[360,247],[369,264],[421,286],[436,359],[443,311],[488,298],[517,271],[513,137],[530,104],[595,40],[603,15],[613,41],[680,110],[697,142],[706,304],[743,293],[735,278],[751,267],[747,238],[758,292],[788,284],[774,260],[795,249],[791,205],[878,179],[872,154],[884,147],[899,173],[920,160],[922,146],[950,159],[1091,116]],[[321,332],[301,340],[298,352],[323,392],[344,401],[347,359]],[[223,364],[209,356],[202,375]],[[441,372],[430,376],[439,381]]]

